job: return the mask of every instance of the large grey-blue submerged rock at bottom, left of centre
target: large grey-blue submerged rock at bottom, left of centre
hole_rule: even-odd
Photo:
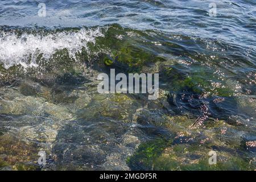
[[[90,126],[90,127],[88,127]],[[108,119],[73,121],[59,131],[53,146],[56,163],[85,169],[102,169],[106,156],[115,150],[125,126]]]

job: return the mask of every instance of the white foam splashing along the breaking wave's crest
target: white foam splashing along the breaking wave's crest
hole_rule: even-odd
[[[79,31],[63,31],[47,35],[33,35],[24,33],[18,36],[14,33],[0,31],[0,62],[5,68],[12,65],[37,67],[36,57],[42,53],[48,60],[60,49],[66,48],[69,56],[76,59],[76,53],[82,48],[88,50],[88,43],[95,43],[96,37],[104,36],[100,28],[85,29]]]

